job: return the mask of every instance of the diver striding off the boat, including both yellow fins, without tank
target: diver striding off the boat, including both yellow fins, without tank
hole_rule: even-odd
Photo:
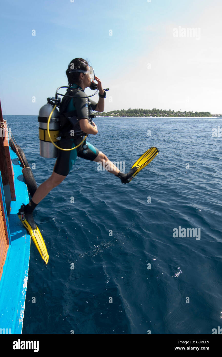
[[[61,149],[57,149],[57,160],[52,175],[37,188],[30,202],[27,205],[22,205],[18,213],[21,222],[30,232],[42,259],[46,263],[48,262],[47,249],[41,233],[35,225],[32,212],[38,203],[66,178],[77,156],[89,161],[101,162],[106,171],[120,178],[122,183],[128,183],[158,154],[158,149],[150,148],[135,162],[128,173],[120,172],[102,151],[99,151],[86,139],[84,140],[84,136],[98,133],[97,125],[92,121],[92,116],[89,113],[92,110],[104,111],[106,93],[102,88],[100,79],[94,75],[94,70],[89,66],[88,61],[82,58],[75,58],[69,63],[66,75],[68,89],[59,105],[59,137],[61,139],[57,142],[57,145]],[[85,94],[84,90],[87,87],[92,90],[98,89],[98,103]],[[38,244],[36,244],[36,241]]]

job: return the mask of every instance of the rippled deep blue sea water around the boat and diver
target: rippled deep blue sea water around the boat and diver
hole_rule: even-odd
[[[56,159],[39,154],[37,117],[5,119],[40,185]],[[23,333],[212,333],[222,327],[222,138],[212,137],[222,120],[95,122],[88,141],[126,171],[149,147],[160,152],[127,185],[77,158],[38,205],[50,262],[31,242]],[[173,237],[179,226],[200,228],[200,240]]]

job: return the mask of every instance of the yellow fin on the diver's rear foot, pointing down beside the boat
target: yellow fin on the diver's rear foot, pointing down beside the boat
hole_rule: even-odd
[[[48,256],[47,248],[46,248],[45,242],[42,238],[41,232],[35,224],[32,213],[24,214],[23,207],[24,206],[22,205],[19,210],[19,213],[18,213],[19,219],[22,222],[22,224],[24,225],[24,227],[27,229],[27,231],[29,232],[42,259],[47,264],[49,256]]]

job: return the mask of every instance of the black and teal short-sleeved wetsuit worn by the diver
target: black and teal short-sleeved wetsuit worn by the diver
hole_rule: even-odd
[[[64,96],[60,104],[60,114],[71,113],[72,115],[71,121],[66,120],[66,118],[64,118],[64,124],[60,130],[61,140],[58,141],[57,145],[60,146],[62,149],[71,149],[83,140],[83,137],[86,136],[86,133],[81,130],[79,126],[79,120],[89,120],[88,106],[91,106],[91,110],[95,110],[97,106],[96,102],[94,102],[90,98],[86,98],[86,94],[81,87],[77,86],[76,84],[73,84],[71,87],[69,87],[69,89],[77,89],[77,91],[73,92],[73,96],[78,98],[70,98],[70,100],[68,100],[67,97]],[[83,149],[84,144],[87,145],[87,149]],[[83,151],[85,150],[87,150],[87,152],[84,154]],[[72,168],[72,165],[76,161],[77,156],[82,157],[86,160],[93,161],[99,154],[99,150],[95,146],[90,144],[88,141],[84,141],[79,147],[70,151],[63,151],[59,149],[57,149],[57,151],[58,157],[56,160],[54,171],[56,172],[56,174],[63,176],[68,175],[69,171]]]

